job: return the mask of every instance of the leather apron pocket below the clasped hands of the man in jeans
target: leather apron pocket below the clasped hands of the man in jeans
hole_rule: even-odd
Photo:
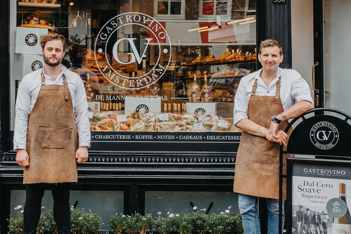
[[[265,164],[273,164],[279,160],[279,143],[260,136],[248,136],[248,138],[250,138],[248,146],[251,153],[247,160]]]

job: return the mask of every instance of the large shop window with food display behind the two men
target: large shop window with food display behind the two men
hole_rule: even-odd
[[[239,132],[234,96],[256,71],[254,0],[13,5],[13,96],[44,64],[40,34],[57,32],[67,39],[62,63],[86,86],[91,131]],[[14,98],[11,105],[13,129]]]

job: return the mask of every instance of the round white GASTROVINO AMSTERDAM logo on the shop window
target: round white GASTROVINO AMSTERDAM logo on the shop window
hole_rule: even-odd
[[[129,28],[125,26],[146,28],[148,38],[145,38],[145,42],[138,38],[121,38],[121,28],[124,27],[125,30]],[[143,29],[143,31],[145,30]],[[124,34],[127,34],[126,31]],[[131,31],[130,34],[133,35],[133,32]],[[168,34],[160,22],[146,14],[129,12],[117,15],[100,29],[97,38],[98,40],[95,40],[94,45],[95,59],[97,53],[104,52],[108,63],[108,66],[104,64],[99,66],[101,74],[108,81],[123,89],[133,90],[150,86],[161,78],[170,64],[172,49]],[[127,48],[125,45],[127,45]],[[152,63],[148,61],[149,64],[154,65],[150,66],[150,72],[140,74],[135,78],[130,77],[128,73],[121,72],[121,69],[115,69],[107,58],[107,52],[112,48],[113,58],[119,65],[131,66],[135,63],[140,65],[143,59],[147,59],[146,53],[151,47],[155,54],[158,54],[158,57]],[[125,59],[125,55],[128,59]],[[120,58],[120,56],[123,56],[123,58]],[[167,64],[164,64],[163,61],[167,61]],[[97,62],[97,64],[99,63]],[[154,68],[155,74],[152,73]]]

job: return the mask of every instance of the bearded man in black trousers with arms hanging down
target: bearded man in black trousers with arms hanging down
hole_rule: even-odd
[[[88,104],[80,76],[61,65],[64,36],[41,35],[40,45],[44,67],[24,76],[15,107],[13,144],[26,185],[23,233],[36,233],[48,185],[58,233],[71,234],[70,186],[90,147]]]

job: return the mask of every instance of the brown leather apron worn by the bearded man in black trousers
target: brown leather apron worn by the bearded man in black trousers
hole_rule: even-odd
[[[45,85],[41,72],[41,88],[28,120],[24,184],[77,182],[78,132],[65,74],[62,77],[64,85]]]

